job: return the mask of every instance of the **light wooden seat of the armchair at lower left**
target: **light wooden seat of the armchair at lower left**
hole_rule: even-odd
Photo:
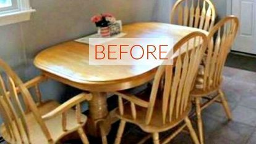
[[[53,100],[44,102],[41,105],[38,105],[38,110],[40,111],[41,116],[48,113],[51,110],[54,110],[54,108],[57,108],[60,104],[58,102],[55,102]],[[28,132],[30,133],[30,141],[31,143],[48,143],[48,140],[46,139],[45,135],[43,134],[40,126],[36,122],[35,118],[33,118],[33,114],[31,112],[25,113],[25,119],[28,122]],[[69,132],[65,132],[62,130],[62,121],[61,116],[56,116],[53,119],[49,119],[45,121],[46,126],[49,129],[49,132],[51,134],[51,137],[53,137],[53,141],[56,142],[59,140],[59,138],[63,137],[64,135],[69,134],[70,132],[74,132],[77,130],[77,127],[80,127],[79,124],[77,124],[77,121],[75,118],[75,110],[68,110],[67,111],[67,130]],[[81,121],[82,125],[85,124],[87,121],[87,117],[83,114],[81,114]],[[14,127],[14,129],[17,129],[17,127]],[[2,124],[0,128],[0,132],[4,140],[6,140],[9,143],[22,143],[19,134],[17,133],[18,130],[14,130],[16,133],[16,137],[18,138],[17,142],[10,142],[12,139],[10,138],[10,135],[6,131],[6,126]],[[27,139],[25,138],[25,131],[22,130],[23,139],[25,140],[24,143],[28,143]]]

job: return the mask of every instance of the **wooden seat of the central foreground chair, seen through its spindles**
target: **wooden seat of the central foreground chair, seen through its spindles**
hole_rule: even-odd
[[[141,94],[136,95],[137,97],[141,98],[142,100],[148,101],[148,98],[150,97],[149,94]],[[190,113],[191,105],[187,106],[187,110],[184,111],[182,115],[176,118],[176,111],[173,112],[173,120],[171,122],[166,121],[165,124],[163,124],[163,116],[162,116],[162,101],[156,99],[155,107],[154,107],[154,114],[152,115],[152,119],[149,125],[145,124],[145,118],[147,114],[147,108],[142,108],[140,106],[136,106],[137,110],[137,118],[132,118],[132,111],[130,108],[130,103],[127,102],[124,104],[124,114],[121,116],[119,111],[116,111],[117,117],[120,119],[124,119],[125,121],[131,122],[139,126],[142,130],[145,132],[151,133],[151,132],[164,132],[166,130],[169,130],[184,120],[184,118]],[[169,113],[169,112],[168,112]],[[168,118],[169,119],[169,116]]]

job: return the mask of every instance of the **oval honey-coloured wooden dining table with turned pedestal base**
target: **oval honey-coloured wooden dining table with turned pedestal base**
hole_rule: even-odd
[[[167,23],[131,23],[124,25],[123,38],[173,38],[174,44],[189,33],[207,31]],[[154,78],[156,65],[89,65],[89,46],[67,41],[36,55],[34,64],[48,78],[93,94],[88,102],[87,133],[108,135],[113,114],[107,108],[107,93],[126,90]]]

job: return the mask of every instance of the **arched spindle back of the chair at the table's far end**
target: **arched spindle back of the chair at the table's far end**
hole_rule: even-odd
[[[171,11],[171,23],[209,31],[216,18],[210,0],[177,0]]]

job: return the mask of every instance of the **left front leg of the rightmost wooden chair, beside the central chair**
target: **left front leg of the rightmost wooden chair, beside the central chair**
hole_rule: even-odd
[[[200,143],[203,144],[203,141],[204,141],[203,140],[203,122],[202,122],[200,104],[201,104],[201,98],[200,97],[195,98],[198,134],[199,134]]]

